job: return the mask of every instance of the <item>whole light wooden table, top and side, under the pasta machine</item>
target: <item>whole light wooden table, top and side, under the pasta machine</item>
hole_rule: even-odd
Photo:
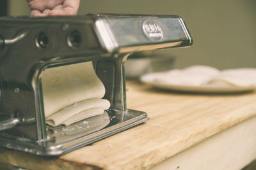
[[[150,120],[57,158],[0,149],[28,169],[241,169],[256,158],[256,93],[186,94],[127,82]]]

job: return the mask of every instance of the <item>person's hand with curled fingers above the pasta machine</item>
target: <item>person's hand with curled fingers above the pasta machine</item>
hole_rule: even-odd
[[[80,0],[27,0],[32,16],[76,15]]]

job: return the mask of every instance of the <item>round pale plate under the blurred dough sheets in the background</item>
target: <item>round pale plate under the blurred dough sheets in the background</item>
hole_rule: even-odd
[[[141,76],[140,80],[143,83],[148,85],[152,85],[153,87],[157,87],[159,89],[166,89],[166,90],[175,90],[181,92],[205,92],[205,93],[230,93],[230,92],[248,92],[255,90],[256,87],[248,86],[248,87],[236,87],[228,85],[224,82],[219,83],[211,83],[206,85],[173,85],[170,83],[160,83],[154,81],[157,74],[145,74]]]

